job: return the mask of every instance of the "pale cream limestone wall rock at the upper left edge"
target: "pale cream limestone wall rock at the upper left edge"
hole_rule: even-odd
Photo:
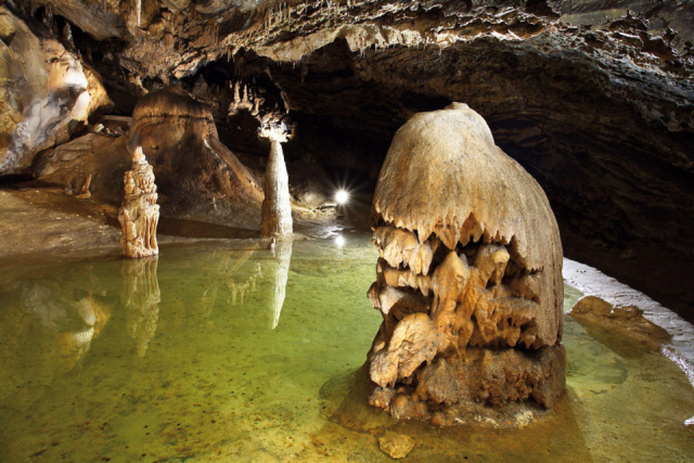
[[[37,153],[69,140],[111,100],[49,30],[0,5],[0,175],[24,173]]]

